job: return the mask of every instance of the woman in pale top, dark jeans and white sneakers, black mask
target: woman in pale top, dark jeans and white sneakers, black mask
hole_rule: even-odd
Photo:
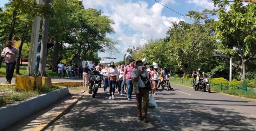
[[[110,62],[110,67],[107,70],[107,74],[109,85],[109,100],[115,99],[115,84],[117,81],[118,70],[115,68],[115,63],[113,61]]]

